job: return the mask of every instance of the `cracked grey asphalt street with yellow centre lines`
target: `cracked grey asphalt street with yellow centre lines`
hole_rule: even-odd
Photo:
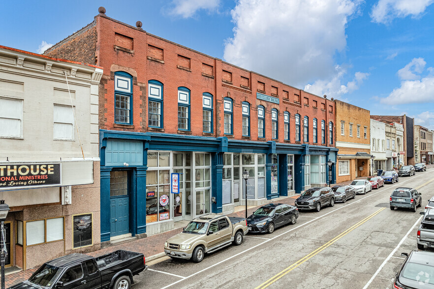
[[[248,234],[240,246],[200,263],[162,258],[134,277],[139,288],[393,288],[402,252],[417,250],[416,233],[434,193],[434,170],[400,177],[320,212],[302,211],[295,225]],[[422,207],[389,209],[397,187],[416,188]]]

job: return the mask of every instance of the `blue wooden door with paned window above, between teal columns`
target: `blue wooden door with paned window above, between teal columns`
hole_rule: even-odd
[[[129,172],[110,173],[110,236],[129,233]]]

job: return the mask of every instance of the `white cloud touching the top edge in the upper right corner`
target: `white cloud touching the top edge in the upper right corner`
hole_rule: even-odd
[[[372,6],[372,22],[388,24],[395,18],[420,16],[434,0],[379,0]]]

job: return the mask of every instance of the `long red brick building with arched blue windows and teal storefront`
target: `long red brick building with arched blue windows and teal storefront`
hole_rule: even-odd
[[[45,52],[104,68],[101,241],[231,212],[245,202],[245,170],[248,204],[329,183],[327,161],[336,162],[337,150],[334,101],[140,26],[100,13]],[[181,173],[176,194],[173,173]]]

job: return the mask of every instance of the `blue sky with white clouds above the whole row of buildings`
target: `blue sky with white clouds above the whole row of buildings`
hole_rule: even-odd
[[[434,129],[434,0],[5,1],[0,44],[40,52],[109,17],[312,93]],[[47,45],[43,45],[47,44]]]

